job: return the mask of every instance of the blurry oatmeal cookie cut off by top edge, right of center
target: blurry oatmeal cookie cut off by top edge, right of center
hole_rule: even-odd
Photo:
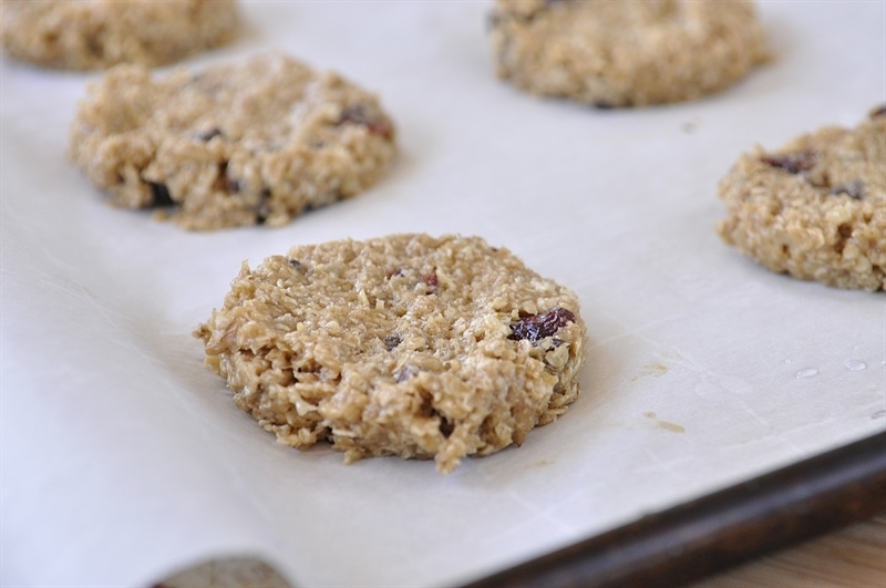
[[[766,59],[751,1],[496,0],[497,74],[600,107],[701,97]]]

